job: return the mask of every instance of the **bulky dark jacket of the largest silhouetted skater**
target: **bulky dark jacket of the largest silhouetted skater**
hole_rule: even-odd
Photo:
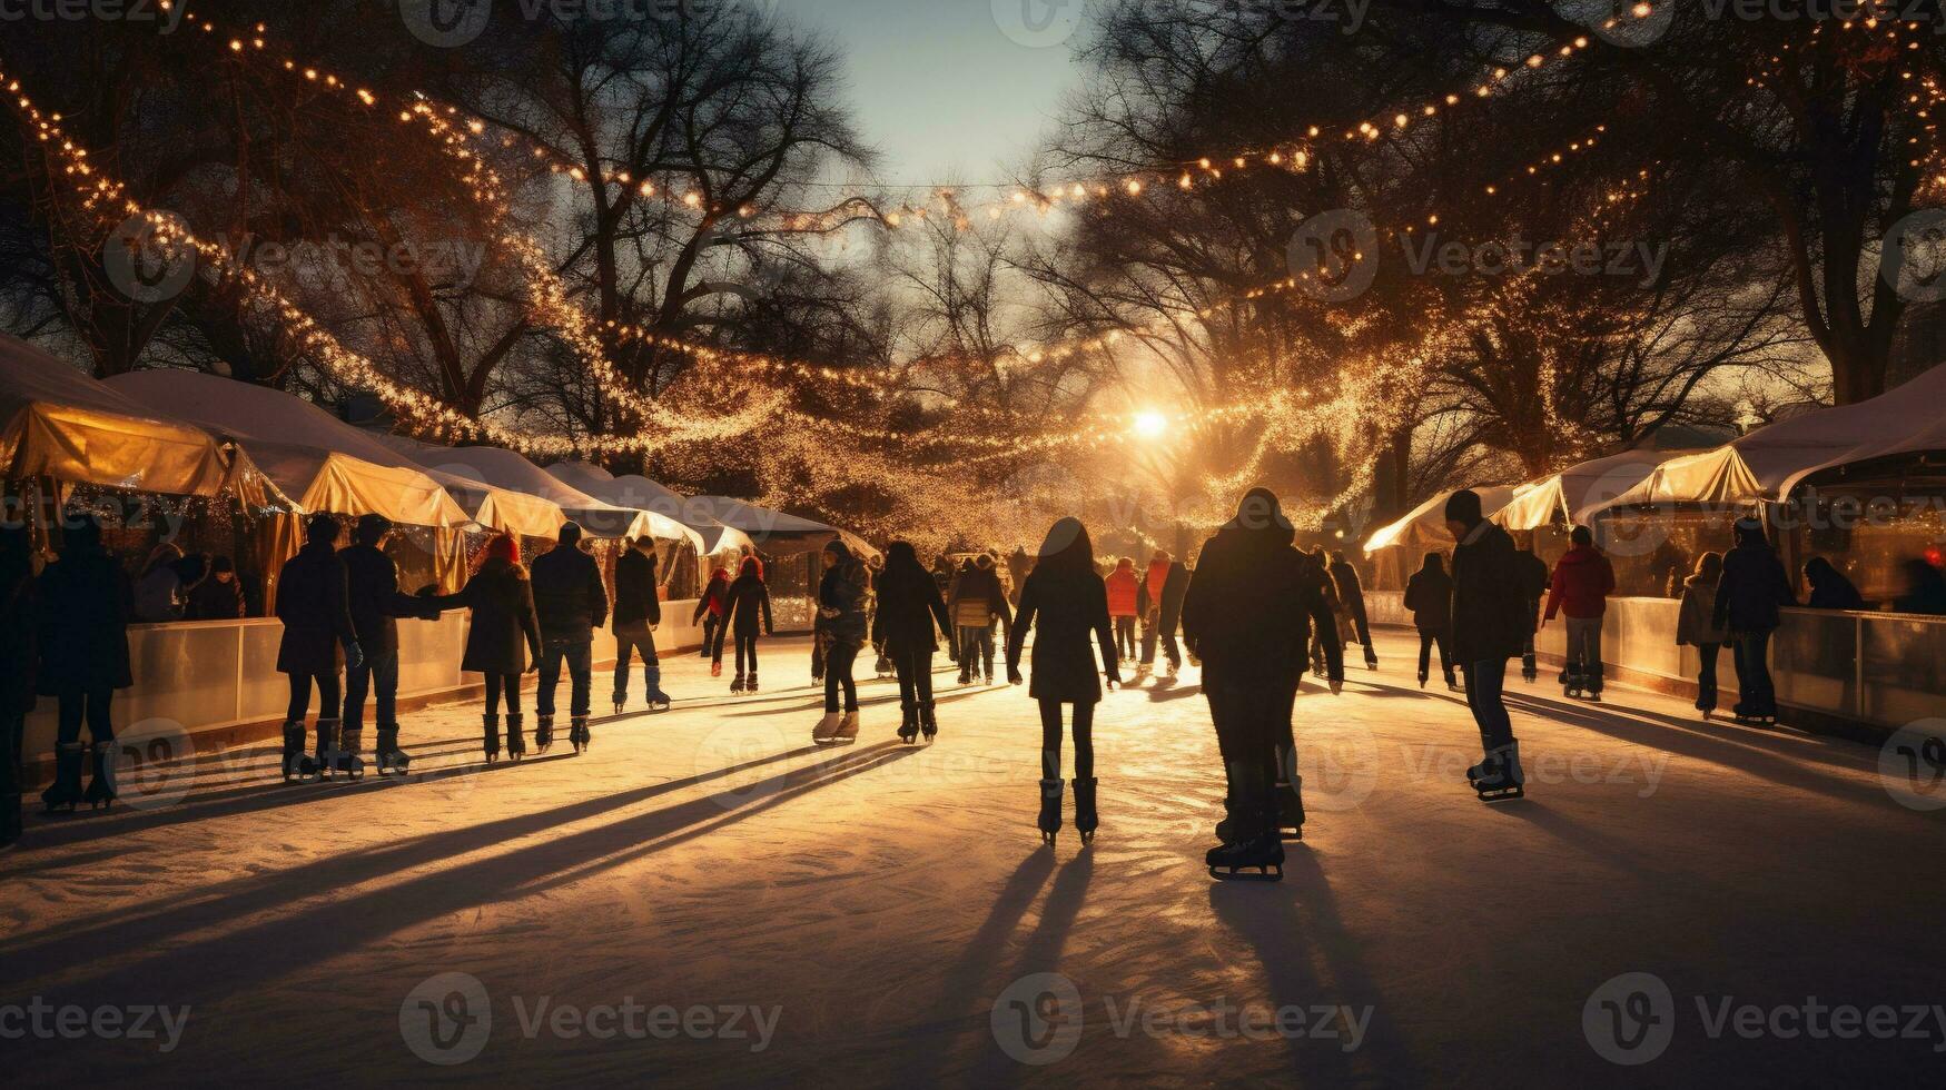
[[[1345,642],[1323,570],[1292,539],[1288,524],[1230,522],[1203,547],[1183,598],[1183,636],[1203,660],[1205,687],[1296,689],[1314,631],[1323,636],[1329,677],[1345,679]]]

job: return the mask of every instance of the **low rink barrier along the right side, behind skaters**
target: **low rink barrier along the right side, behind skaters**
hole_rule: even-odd
[[[1409,627],[1399,592],[1366,594],[1374,625]],[[1670,598],[1611,598],[1602,621],[1602,660],[1615,681],[1693,701],[1697,648],[1676,646],[1681,603]],[[1567,625],[1535,636],[1541,660],[1561,666]],[[1736,705],[1736,664],[1718,664],[1720,714]],[[1820,734],[1882,742],[1946,705],[1946,619],[1903,613],[1784,609],[1771,638],[1771,677],[1781,720]]]

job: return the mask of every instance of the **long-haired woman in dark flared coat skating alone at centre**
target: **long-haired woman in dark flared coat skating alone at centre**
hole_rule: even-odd
[[[1135,572],[1129,574],[1135,578]],[[1107,584],[1094,566],[1094,541],[1076,518],[1063,518],[1047,531],[1039,559],[1020,590],[1020,611],[1006,638],[1006,679],[1020,685],[1020,654],[1027,633],[1033,640],[1033,685],[1027,695],[1041,705],[1041,841],[1049,847],[1061,831],[1061,708],[1074,707],[1074,831],[1092,843],[1101,823],[1096,808],[1094,712],[1101,703],[1101,675],[1109,689],[1121,685],[1115,627],[1109,621]],[[1133,609],[1133,601],[1129,603]],[[1101,668],[1096,666],[1099,644]]]

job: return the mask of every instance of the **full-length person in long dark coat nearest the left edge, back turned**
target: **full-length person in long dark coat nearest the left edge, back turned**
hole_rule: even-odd
[[[115,800],[115,689],[134,685],[128,672],[128,617],[134,590],[128,572],[101,549],[101,524],[76,516],[62,531],[60,559],[41,572],[41,672],[35,685],[58,707],[54,786],[47,810],[101,808]],[[82,720],[93,738],[93,779],[82,790]]]

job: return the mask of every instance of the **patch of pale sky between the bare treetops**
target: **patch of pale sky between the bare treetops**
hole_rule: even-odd
[[[1004,177],[1080,82],[1086,0],[776,0],[845,56],[887,183]]]

